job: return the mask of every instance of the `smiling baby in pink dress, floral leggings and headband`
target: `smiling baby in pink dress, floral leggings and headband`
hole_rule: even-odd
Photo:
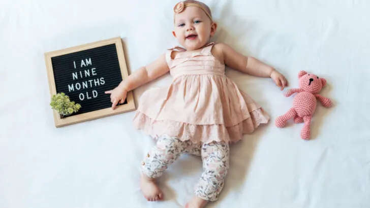
[[[204,207],[217,200],[229,168],[229,144],[269,121],[263,109],[225,76],[225,65],[271,78],[281,90],[287,86],[286,78],[273,67],[226,44],[210,42],[216,29],[207,5],[191,0],[177,3],[172,33],[181,47],[167,50],[106,92],[115,109],[127,92],[168,72],[173,77],[170,86],[143,93],[134,118],[134,125],[157,141],[141,163],[140,187],[149,201],[163,199],[156,179],[181,154],[198,155],[203,161],[203,174],[186,207]]]

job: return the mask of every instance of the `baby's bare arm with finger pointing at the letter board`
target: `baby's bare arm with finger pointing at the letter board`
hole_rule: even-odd
[[[115,109],[118,102],[123,103],[125,101],[127,92],[161,77],[169,70],[165,54],[148,65],[138,68],[128,78],[122,80],[116,88],[105,92],[106,94],[111,94],[112,109]]]

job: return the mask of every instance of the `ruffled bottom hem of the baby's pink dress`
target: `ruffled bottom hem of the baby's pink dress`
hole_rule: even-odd
[[[153,120],[144,113],[136,111],[133,124],[155,139],[161,135],[169,135],[181,141],[190,140],[193,143],[235,143],[243,138],[243,134],[252,133],[260,124],[268,123],[270,120],[262,108],[250,112],[250,115],[250,118],[226,127],[222,124],[195,125],[172,120]]]

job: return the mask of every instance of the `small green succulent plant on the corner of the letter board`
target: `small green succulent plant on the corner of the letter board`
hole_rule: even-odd
[[[61,118],[76,113],[81,108],[79,103],[71,101],[69,96],[63,92],[51,97],[50,106],[61,115]]]

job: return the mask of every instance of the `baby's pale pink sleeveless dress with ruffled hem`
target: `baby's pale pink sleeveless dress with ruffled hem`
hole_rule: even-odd
[[[234,143],[269,121],[266,112],[225,76],[225,65],[211,54],[213,45],[196,53],[177,53],[174,59],[175,49],[167,51],[173,81],[142,94],[133,120],[136,128],[154,138],[167,134],[193,143]]]

